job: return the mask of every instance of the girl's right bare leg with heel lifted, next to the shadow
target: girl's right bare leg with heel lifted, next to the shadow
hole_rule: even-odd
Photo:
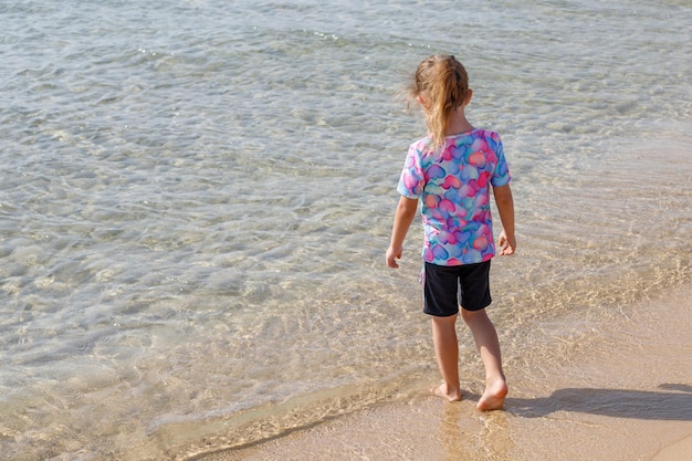
[[[485,391],[479,400],[479,410],[499,410],[504,405],[507,395],[507,384],[502,373],[502,355],[495,326],[487,317],[485,310],[464,311],[461,316],[469,325],[475,346],[481,353],[481,359],[485,365]]]

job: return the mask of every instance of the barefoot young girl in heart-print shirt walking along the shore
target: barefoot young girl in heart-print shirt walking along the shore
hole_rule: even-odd
[[[397,190],[401,193],[394,220],[387,265],[398,268],[402,243],[422,201],[423,312],[432,318],[432,339],[443,383],[432,392],[461,400],[455,322],[464,319],[485,366],[481,410],[504,405],[507,385],[500,343],[485,313],[491,303],[489,271],[495,254],[490,212],[492,186],[503,231],[500,254],[513,254],[514,202],[510,171],[496,133],[474,128],[464,115],[471,102],[466,71],[451,55],[420,63],[409,88],[420,103],[428,136],[409,147]]]

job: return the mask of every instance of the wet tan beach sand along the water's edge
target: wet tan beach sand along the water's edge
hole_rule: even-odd
[[[681,287],[622,307],[569,346],[569,363],[506,364],[503,411],[478,411],[479,388],[455,404],[421,389],[407,401],[196,459],[683,461],[692,453],[691,300],[692,289]]]

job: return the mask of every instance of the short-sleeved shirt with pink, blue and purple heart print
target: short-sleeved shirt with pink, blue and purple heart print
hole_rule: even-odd
[[[422,258],[438,265],[473,264],[495,254],[490,186],[510,182],[500,135],[474,129],[411,144],[397,190],[421,199]]]

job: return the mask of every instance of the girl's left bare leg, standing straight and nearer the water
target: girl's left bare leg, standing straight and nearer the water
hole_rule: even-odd
[[[449,401],[461,400],[459,387],[459,343],[455,328],[457,315],[432,317],[432,342],[438,357],[438,366],[444,383],[432,392]]]

